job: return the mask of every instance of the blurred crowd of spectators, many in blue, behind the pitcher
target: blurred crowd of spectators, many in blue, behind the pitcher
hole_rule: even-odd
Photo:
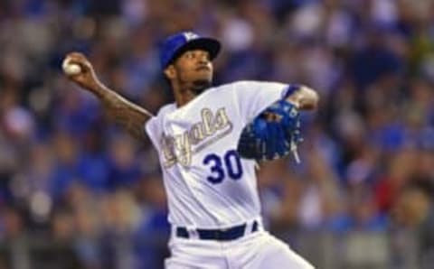
[[[135,252],[123,262],[158,268],[169,225],[156,152],[60,66],[82,51],[105,84],[156,113],[173,101],[158,44],[181,30],[222,42],[216,85],[297,82],[320,94],[319,111],[303,115],[302,163],[259,170],[271,230],[411,227],[434,253],[429,0],[0,1],[1,240],[74,239],[82,268],[110,268],[100,257],[116,246],[101,242],[127,235],[118,243]]]

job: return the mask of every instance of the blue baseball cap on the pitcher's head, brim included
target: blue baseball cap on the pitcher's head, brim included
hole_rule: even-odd
[[[178,32],[165,39],[160,49],[161,68],[165,68],[185,51],[199,49],[208,51],[213,60],[219,54],[221,44],[219,41],[202,37],[194,32]]]

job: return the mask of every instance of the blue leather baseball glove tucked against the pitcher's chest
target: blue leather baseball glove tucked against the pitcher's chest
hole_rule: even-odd
[[[303,139],[300,134],[300,115],[295,105],[282,99],[256,116],[241,132],[238,153],[242,158],[258,162],[283,158],[294,153]]]

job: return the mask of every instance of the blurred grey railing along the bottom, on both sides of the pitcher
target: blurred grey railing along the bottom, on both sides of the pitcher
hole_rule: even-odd
[[[420,269],[410,232],[282,232],[300,255],[321,269]],[[167,238],[109,236],[54,240],[27,235],[0,242],[0,269],[159,269]],[[427,267],[428,268],[428,267]]]

